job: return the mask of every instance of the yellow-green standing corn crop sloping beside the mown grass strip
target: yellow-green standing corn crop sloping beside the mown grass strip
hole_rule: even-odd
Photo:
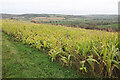
[[[35,24],[22,20],[3,20],[2,31],[24,45],[47,51],[46,55],[52,62],[59,62],[79,73],[94,77],[120,76],[117,32]]]

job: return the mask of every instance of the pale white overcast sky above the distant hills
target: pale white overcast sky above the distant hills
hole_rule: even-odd
[[[0,12],[11,14],[117,14],[119,0],[0,0]]]

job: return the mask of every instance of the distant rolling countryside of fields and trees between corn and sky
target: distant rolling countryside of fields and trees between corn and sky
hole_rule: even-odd
[[[3,14],[3,18],[31,21],[34,23],[46,23],[54,25],[65,25],[69,27],[80,27],[85,29],[118,31],[117,15],[60,15],[60,14]]]

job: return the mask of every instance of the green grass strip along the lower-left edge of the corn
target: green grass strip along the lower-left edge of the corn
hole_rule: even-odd
[[[45,51],[23,45],[2,32],[3,78],[75,78],[73,69],[51,62]]]

